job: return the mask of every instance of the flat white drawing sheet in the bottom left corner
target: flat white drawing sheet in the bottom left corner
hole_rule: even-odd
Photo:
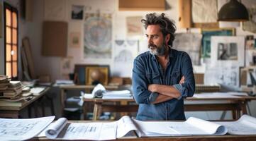
[[[28,140],[38,135],[55,116],[30,119],[0,118],[0,140]]]

